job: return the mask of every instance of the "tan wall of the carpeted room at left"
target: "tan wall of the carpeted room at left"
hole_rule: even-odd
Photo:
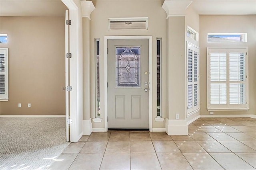
[[[65,114],[64,20],[0,17],[0,33],[8,34],[0,47],[9,50],[9,101],[0,102],[0,115]]]

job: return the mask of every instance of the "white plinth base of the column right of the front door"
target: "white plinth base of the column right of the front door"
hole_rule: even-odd
[[[186,120],[166,118],[166,133],[168,135],[188,135],[188,125]]]

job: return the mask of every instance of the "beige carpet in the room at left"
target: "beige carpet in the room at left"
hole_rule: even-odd
[[[47,169],[68,145],[65,118],[0,118],[0,170]]]

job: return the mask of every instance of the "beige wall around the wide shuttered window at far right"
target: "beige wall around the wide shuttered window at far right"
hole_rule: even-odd
[[[247,43],[207,43],[207,33],[247,33]],[[256,114],[256,16],[200,16],[200,114],[207,111],[207,47],[248,47],[249,107],[248,111],[214,111],[217,114]]]

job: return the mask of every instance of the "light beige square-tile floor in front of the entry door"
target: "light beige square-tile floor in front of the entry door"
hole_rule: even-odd
[[[255,170],[256,119],[200,118],[188,135],[95,132],[70,143],[55,170]]]

